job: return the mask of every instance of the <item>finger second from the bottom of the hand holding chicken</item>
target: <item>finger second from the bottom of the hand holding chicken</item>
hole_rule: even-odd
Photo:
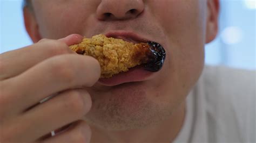
[[[57,128],[79,120],[90,110],[91,104],[87,91],[65,91],[19,116],[15,123],[6,123],[3,126],[3,137],[15,137],[14,140],[9,139],[6,142],[35,141]]]

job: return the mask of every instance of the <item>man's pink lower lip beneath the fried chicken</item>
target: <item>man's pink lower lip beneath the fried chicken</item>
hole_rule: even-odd
[[[145,81],[154,73],[144,70],[142,66],[129,69],[124,73],[113,75],[110,78],[100,78],[98,83],[106,86],[114,86],[127,82]]]

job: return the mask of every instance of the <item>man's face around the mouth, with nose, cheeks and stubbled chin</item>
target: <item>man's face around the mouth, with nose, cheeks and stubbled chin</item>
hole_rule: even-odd
[[[164,66],[149,80],[88,89],[93,104],[85,119],[91,124],[125,130],[171,118],[203,69],[205,0],[32,0],[32,6],[42,38],[124,30],[165,48]],[[122,15],[131,9],[136,12]]]

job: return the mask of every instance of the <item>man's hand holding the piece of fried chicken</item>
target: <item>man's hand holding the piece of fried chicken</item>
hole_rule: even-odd
[[[90,127],[79,119],[90,110],[91,97],[79,87],[95,84],[100,66],[69,49],[82,38],[43,39],[0,54],[0,142],[90,141]],[[56,96],[39,104],[50,95]],[[58,133],[51,137],[53,130]]]

